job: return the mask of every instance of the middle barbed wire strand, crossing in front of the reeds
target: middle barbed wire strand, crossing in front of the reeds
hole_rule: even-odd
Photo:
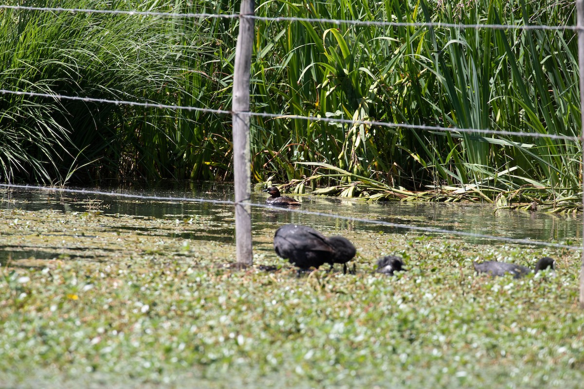
[[[168,108],[173,110],[187,110],[187,111],[200,111],[206,113],[214,114],[234,114],[233,111],[226,110],[214,110],[211,108],[199,108],[191,106],[177,106],[172,104],[159,104],[159,103],[142,103],[137,101],[124,101],[124,100],[109,100],[109,99],[99,99],[95,97],[81,97],[81,96],[66,96],[63,94],[48,94],[48,93],[37,93],[37,92],[21,92],[17,90],[7,90],[0,89],[1,94],[16,94],[18,96],[30,96],[30,97],[46,97],[48,99],[54,100],[79,100],[91,103],[111,103],[111,104],[124,104],[128,106],[139,106],[139,107],[154,107],[154,108]],[[435,125],[416,125],[416,124],[406,124],[406,123],[389,123],[383,121],[375,120],[349,120],[340,118],[324,118],[318,116],[302,116],[302,115],[289,115],[289,114],[271,114],[271,113],[254,113],[254,112],[240,112],[241,115],[259,116],[259,117],[269,117],[274,119],[302,119],[310,121],[322,121],[329,123],[345,123],[351,125],[378,125],[380,127],[389,128],[409,128],[409,129],[421,129],[424,131],[442,131],[442,132],[465,132],[470,134],[493,134],[493,135],[512,135],[512,136],[527,136],[530,138],[549,138],[549,139],[561,139],[565,141],[580,141],[582,138],[579,136],[570,135],[556,135],[556,134],[541,134],[540,132],[523,132],[523,131],[500,131],[495,129],[477,129],[477,128],[458,128],[458,127],[440,127]]]

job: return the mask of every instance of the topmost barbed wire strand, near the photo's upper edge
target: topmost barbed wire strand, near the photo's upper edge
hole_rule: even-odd
[[[128,16],[165,16],[165,17],[199,17],[199,18],[225,18],[236,19],[247,17],[249,19],[261,20],[265,22],[307,22],[307,23],[332,23],[336,25],[351,24],[359,26],[381,26],[381,27],[434,27],[434,28],[458,28],[458,29],[495,29],[495,30],[572,30],[578,31],[577,26],[550,26],[546,24],[462,24],[462,23],[440,23],[440,22],[380,22],[375,20],[344,20],[325,19],[313,17],[294,16],[255,16],[239,14],[218,14],[218,13],[182,13],[182,12],[157,12],[157,11],[137,11],[121,9],[85,9],[85,8],[61,8],[61,7],[33,7],[22,5],[0,5],[0,9],[14,10],[39,10],[50,12],[72,12],[72,13],[101,13],[110,15]]]

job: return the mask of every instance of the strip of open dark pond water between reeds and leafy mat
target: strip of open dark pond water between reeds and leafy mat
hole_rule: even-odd
[[[111,189],[103,190],[111,192]],[[187,183],[173,189],[115,190],[119,193],[136,194],[144,197],[188,197],[232,201],[230,184]],[[188,219],[197,216],[208,218],[212,233],[206,236],[183,234],[185,239],[208,239],[230,243],[234,240],[234,214],[232,205],[210,204],[185,201],[154,201],[147,198],[133,199],[109,195],[59,193],[51,191],[21,190],[0,191],[3,209],[35,211],[54,209],[61,212],[85,212],[99,209],[106,214],[148,216],[152,218]],[[253,192],[252,202],[265,204],[267,194]],[[531,239],[540,241],[568,242],[578,244],[582,235],[582,216],[552,215],[531,211],[498,211],[493,213],[489,204],[445,204],[445,203],[402,203],[366,202],[359,199],[343,199],[316,195],[296,197],[302,202],[300,209],[319,213],[381,220],[419,227],[436,227],[445,230]],[[330,216],[287,212],[279,208],[252,208],[254,233],[275,230],[286,223],[310,225],[324,233],[355,232],[405,232],[392,226],[371,224],[357,220],[336,219]],[[135,229],[134,226],[127,226]],[[469,241],[484,239],[465,238]]]

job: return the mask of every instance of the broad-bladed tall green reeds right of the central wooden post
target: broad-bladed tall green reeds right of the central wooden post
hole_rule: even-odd
[[[562,24],[573,21],[571,9],[561,3],[544,7],[541,2],[477,1],[430,8],[425,2],[361,6],[339,1],[333,6],[289,5],[277,12],[399,22]],[[530,20],[523,15],[530,15]],[[578,90],[572,76],[575,47],[569,31],[304,22],[291,22],[281,30],[270,23],[259,30],[258,50],[270,47],[270,54],[276,55],[274,48],[280,45],[285,53],[282,65],[276,65],[285,78],[262,80],[262,85],[272,87],[269,94],[281,97],[270,100],[266,93],[266,100],[258,104],[271,111],[561,135],[575,135],[579,128]],[[265,152],[269,163],[276,165],[274,170],[279,163],[286,172],[284,179],[308,175],[294,163],[313,160],[414,187],[475,184],[501,191],[529,185],[547,188],[551,196],[578,192],[576,142],[298,120],[260,122],[263,129],[273,125],[289,134],[280,139],[273,135],[278,129],[269,129],[262,138],[265,142],[260,142],[277,144]]]

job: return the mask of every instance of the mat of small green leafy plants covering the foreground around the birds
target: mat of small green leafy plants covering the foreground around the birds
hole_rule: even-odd
[[[297,278],[273,253],[276,226],[254,230],[254,265],[237,271],[210,219],[87,208],[0,211],[2,388],[582,383],[577,252],[337,231],[358,249],[357,274]],[[408,271],[375,274],[390,253]],[[473,260],[533,267],[543,255],[555,276],[472,271]]]

